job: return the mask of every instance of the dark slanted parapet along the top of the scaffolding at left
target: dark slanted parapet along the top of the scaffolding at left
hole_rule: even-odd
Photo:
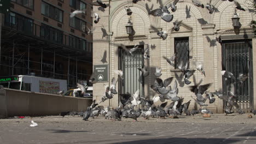
[[[31,19],[26,17],[16,17],[5,15],[4,26],[10,27],[11,31],[16,30],[26,35],[38,37],[51,43],[59,44],[71,49],[83,50],[92,53],[92,43],[84,39],[63,34],[63,31],[52,28],[47,25],[37,25]]]

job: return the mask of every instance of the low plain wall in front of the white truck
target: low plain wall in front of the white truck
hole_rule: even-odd
[[[91,99],[66,97],[4,88],[0,90],[0,118],[59,115],[63,111],[85,111]]]

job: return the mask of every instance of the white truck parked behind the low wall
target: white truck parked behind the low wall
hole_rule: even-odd
[[[67,92],[67,81],[30,75],[13,75],[0,77],[0,85],[21,91],[57,94]]]

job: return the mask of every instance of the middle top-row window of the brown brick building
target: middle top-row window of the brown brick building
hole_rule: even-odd
[[[59,22],[63,22],[63,11],[50,5],[48,3],[42,2],[41,13],[45,16],[50,17]]]

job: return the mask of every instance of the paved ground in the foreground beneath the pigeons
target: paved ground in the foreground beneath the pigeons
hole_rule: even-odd
[[[256,115],[83,121],[60,116],[0,119],[0,143],[256,143]],[[38,127],[30,127],[31,120]]]

